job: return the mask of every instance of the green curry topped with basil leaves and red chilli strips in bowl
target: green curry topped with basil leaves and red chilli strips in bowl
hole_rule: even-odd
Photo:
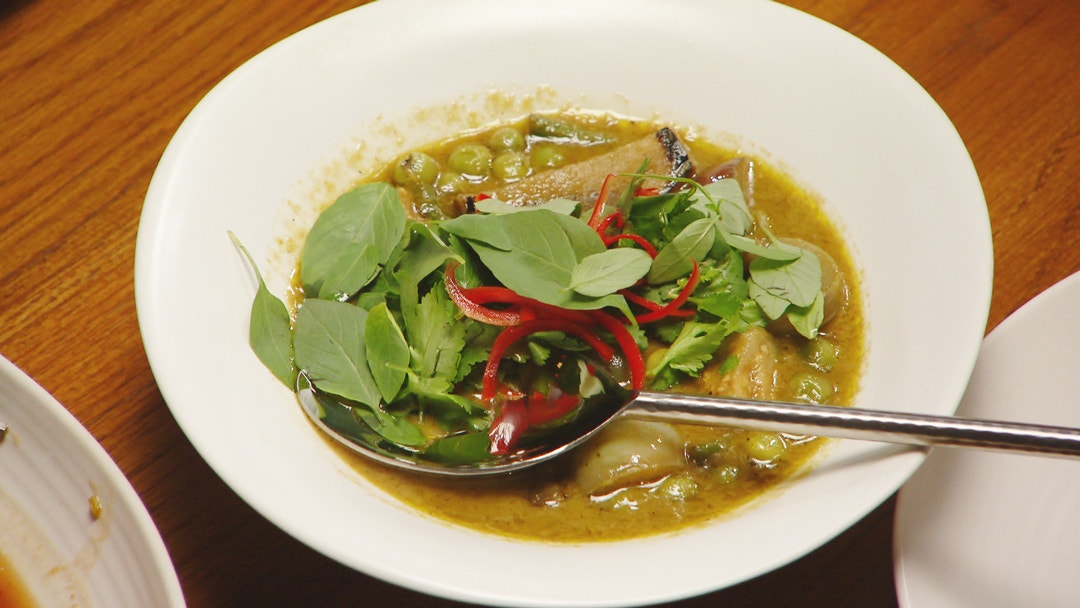
[[[264,312],[262,319],[253,313],[253,327],[264,327],[261,346],[253,332],[253,347],[286,383],[303,369],[311,373],[320,389],[352,403],[356,432],[374,432],[402,449],[430,450],[432,458],[460,457],[461,450],[472,457],[475,452],[469,450],[476,446],[497,449],[491,429],[505,425],[510,401],[522,400],[529,408],[534,403],[530,395],[536,403],[543,397],[543,403],[551,405],[556,402],[553,392],[559,398],[583,398],[592,390],[588,388],[588,366],[578,359],[592,342],[561,322],[537,324],[535,333],[525,332],[504,352],[491,354],[492,343],[499,343],[496,338],[507,330],[499,325],[505,314],[524,315],[507,323],[527,325],[532,316],[545,314],[543,306],[569,309],[568,314],[575,315],[570,319],[583,324],[600,308],[615,317],[622,313],[624,319],[629,313],[646,320],[627,324],[639,348],[635,352],[618,339],[621,329],[595,327],[602,341],[606,340],[616,355],[621,353],[612,355],[612,361],[622,363],[624,380],[638,382],[638,387],[850,405],[863,362],[863,311],[859,274],[837,227],[810,193],[764,160],[687,135],[681,145],[693,168],[685,179],[671,181],[667,176],[679,168],[676,161],[663,166],[663,154],[656,157],[659,162],[633,157],[638,150],[635,146],[652,146],[650,137],[659,129],[661,125],[654,123],[605,114],[530,117],[404,156],[369,180],[383,186],[363,194],[372,201],[389,199],[400,205],[397,211],[381,203],[362,205],[372,226],[361,230],[373,234],[364,244],[334,240],[334,225],[346,221],[335,219],[335,214],[348,216],[341,211],[341,200],[321,216],[323,226],[316,222],[312,228],[295,286],[307,299],[295,302],[295,314],[289,315],[284,303],[261,293],[265,287],[260,286],[256,309],[261,306],[269,312]],[[581,183],[585,179],[582,176],[595,173],[595,167],[582,168],[590,159],[621,159],[619,162],[625,163],[626,154],[631,154],[632,166],[610,170],[623,176],[615,193],[606,193],[600,183]],[[543,175],[555,177],[537,178]],[[699,185],[691,185],[691,178]],[[675,191],[664,190],[673,184]],[[706,185],[704,189],[701,184]],[[700,193],[691,201],[680,191]],[[532,200],[528,200],[530,195]],[[510,201],[523,197],[524,201]],[[608,201],[600,211],[597,199]],[[544,286],[536,278],[514,283],[514,274],[535,272],[517,266],[521,258],[531,255],[528,240],[534,235],[515,237],[512,222],[516,220],[504,216],[523,210],[536,213],[537,204],[551,205],[551,215],[562,218],[544,216],[543,221],[558,225],[566,217],[576,217],[588,225],[584,232],[598,232],[604,243],[598,249],[586,249],[588,255],[579,252],[577,259],[570,257],[569,266],[557,268],[567,273],[558,280],[563,283]],[[673,204],[677,210],[672,210]],[[649,205],[666,210],[659,212],[666,225],[650,229],[651,216],[634,211]],[[700,213],[679,215],[678,210],[691,207]],[[612,210],[619,212],[615,219],[624,228],[618,227],[620,221],[597,221]],[[404,228],[399,230],[399,224]],[[703,228],[691,240],[688,234],[694,227]],[[570,248],[576,248],[578,227],[572,228],[567,233]],[[535,232],[545,230],[537,228]],[[631,230],[648,238],[621,235]],[[499,241],[502,237],[491,235],[503,232],[510,239],[504,246]],[[654,251],[646,255],[644,241],[654,245]],[[700,241],[707,244],[699,246]],[[413,252],[411,261],[402,261],[402,243]],[[350,264],[359,264],[354,258],[378,260],[373,262],[377,268],[370,272],[374,278],[368,273],[360,279],[342,276],[335,270],[341,262],[326,252],[336,255],[349,248],[353,252]],[[597,256],[605,258],[602,270],[578,268],[584,266],[583,257],[594,253],[604,254]],[[804,281],[801,271],[807,258],[821,262],[816,274],[809,273],[810,283]],[[796,266],[795,260],[802,261]],[[399,272],[390,275],[382,268],[397,268]],[[451,273],[449,279],[441,273],[455,268],[456,275]],[[434,274],[429,276],[429,271]],[[778,279],[777,274],[784,276]],[[409,286],[403,278],[415,283]],[[770,283],[773,280],[777,282]],[[747,292],[747,283],[756,285]],[[809,294],[797,293],[806,291],[807,284],[813,285]],[[514,298],[546,301],[530,308],[516,306],[513,298],[499,299],[505,296],[496,289],[510,286]],[[477,305],[475,298],[455,296],[455,287],[470,297],[495,295]],[[622,295],[630,298],[627,292],[635,289],[643,300],[650,301],[622,300]],[[553,292],[564,295],[553,296]],[[720,292],[723,297],[717,296]],[[313,306],[316,298],[320,303]],[[334,326],[362,326],[360,330],[367,332],[365,356],[374,374],[366,383],[333,377],[326,370],[332,365],[311,355],[319,343],[332,338],[311,330],[313,325],[327,325],[325,316],[312,317],[330,308],[323,303],[326,301],[334,301],[335,311],[349,315],[355,311],[340,307],[363,311],[362,317],[338,321]],[[470,307],[476,310],[470,311]],[[462,328],[451,335],[436,327],[443,322],[440,317],[424,316],[443,314],[440,310],[450,311]],[[274,330],[276,338],[271,336]],[[447,348],[455,355],[438,350],[437,343],[418,344],[421,330],[447,336],[441,339],[449,342]],[[289,349],[281,348],[286,341]],[[352,348],[360,348],[360,343],[363,341]],[[477,346],[484,348],[477,350]],[[287,350],[288,356],[275,360],[267,354],[274,349]],[[555,356],[553,352],[569,354]],[[640,369],[627,363],[635,356],[640,360]],[[492,359],[499,361],[492,364]],[[451,360],[455,370],[447,371],[444,368]],[[389,374],[386,368],[401,371]],[[432,396],[448,379],[457,382],[451,396]],[[557,391],[550,389],[556,386]],[[365,403],[375,407],[361,405]],[[558,424],[558,416],[572,416],[572,411],[559,410],[553,420],[534,427],[542,430],[544,424]],[[526,425],[522,431],[510,424],[512,434],[535,432],[536,428]],[[440,437],[447,432],[451,438],[477,441],[461,447],[459,444],[465,442],[455,440],[453,449],[443,449]],[[643,440],[633,436],[636,432],[610,443],[640,444]],[[669,458],[654,473],[646,471],[630,481],[599,485],[584,481],[586,475],[581,473],[588,469],[585,459],[593,456],[591,447],[507,477],[469,481],[409,475],[357,459],[336,445],[335,449],[384,491],[435,517],[503,536],[581,542],[666,532],[731,513],[805,471],[823,444],[814,437],[735,429],[677,427],[659,432],[669,444],[671,437],[677,437],[676,464]],[[596,448],[596,457],[604,450],[603,446]]]

